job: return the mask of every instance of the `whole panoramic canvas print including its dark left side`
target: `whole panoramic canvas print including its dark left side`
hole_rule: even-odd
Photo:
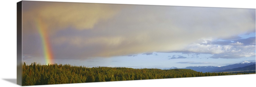
[[[20,1],[17,84],[255,74],[255,9]]]

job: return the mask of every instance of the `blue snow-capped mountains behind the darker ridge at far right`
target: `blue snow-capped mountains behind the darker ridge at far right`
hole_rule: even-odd
[[[241,63],[231,64],[231,65],[222,66],[222,67],[216,67],[216,66],[190,66],[190,67],[186,67],[186,68],[172,67],[170,69],[191,69],[191,70],[195,70],[197,72],[219,72],[219,71],[228,70],[228,69],[245,67],[245,66],[249,66],[249,65],[252,65],[252,64],[255,64],[255,62],[243,61]]]

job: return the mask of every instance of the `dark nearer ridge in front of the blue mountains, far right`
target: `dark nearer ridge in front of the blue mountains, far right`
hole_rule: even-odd
[[[231,71],[253,71],[256,69],[256,64],[248,65],[245,67],[239,67],[239,68],[234,68],[234,69],[227,69],[219,72],[231,72]]]

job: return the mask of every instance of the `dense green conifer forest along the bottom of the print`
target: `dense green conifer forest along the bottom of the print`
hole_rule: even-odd
[[[22,85],[68,84],[106,81],[165,79],[235,75],[236,73],[202,73],[191,69],[134,69],[125,67],[84,67],[70,64],[23,63]]]

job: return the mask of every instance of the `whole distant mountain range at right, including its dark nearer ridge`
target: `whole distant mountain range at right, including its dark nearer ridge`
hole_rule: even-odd
[[[254,68],[253,68],[254,66]],[[169,69],[191,69],[197,72],[228,72],[228,71],[246,71],[255,70],[255,62],[243,61],[241,63],[236,63],[228,66],[216,67],[216,66],[190,66],[186,68],[172,67]],[[227,70],[227,71],[226,71]]]

